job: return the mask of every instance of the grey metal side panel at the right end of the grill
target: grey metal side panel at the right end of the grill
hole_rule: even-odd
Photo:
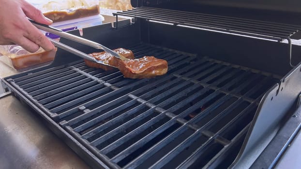
[[[300,82],[301,62],[263,96],[232,168],[249,168],[270,143],[288,111],[300,99]]]

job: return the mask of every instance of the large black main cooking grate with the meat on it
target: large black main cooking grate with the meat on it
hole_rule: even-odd
[[[127,48],[166,59],[168,73],[125,79],[77,61],[7,81],[110,168],[229,166],[279,77],[145,43]]]

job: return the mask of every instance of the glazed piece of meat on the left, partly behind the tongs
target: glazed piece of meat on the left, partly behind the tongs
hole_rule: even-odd
[[[116,53],[119,53],[120,55],[122,55],[126,58],[134,59],[134,54],[131,50],[118,48],[118,49],[114,49],[113,51],[115,51]],[[108,54],[106,52],[97,52],[97,53],[92,53],[92,54],[89,54],[89,55],[95,57],[97,60],[102,60],[106,63],[110,63],[111,62],[110,60],[112,58],[115,58],[114,56],[112,56],[111,54]],[[84,59],[84,60],[85,60],[86,65],[89,66],[89,67],[100,68],[100,69],[103,69],[105,71],[114,69],[113,67],[98,64],[98,63],[92,62],[92,61],[87,60],[87,59]]]

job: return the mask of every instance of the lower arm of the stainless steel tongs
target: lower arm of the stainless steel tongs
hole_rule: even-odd
[[[68,51],[68,52],[70,52],[70,53],[72,53],[72,54],[75,54],[76,56],[80,56],[80,57],[82,57],[82,58],[84,58],[84,59],[88,59],[88,60],[90,60],[90,61],[92,61],[92,62],[95,62],[95,63],[99,63],[99,64],[102,64],[102,65],[107,65],[107,66],[111,66],[111,65],[109,65],[108,63],[106,63],[106,62],[104,62],[104,61],[102,61],[102,60],[97,60],[97,59],[95,59],[95,57],[92,57],[92,56],[89,56],[89,55],[87,55],[87,54],[85,54],[85,53],[83,53],[83,52],[81,52],[81,51],[79,51],[79,50],[76,50],[76,49],[74,49],[74,48],[72,48],[72,47],[70,47],[70,46],[67,46],[67,45],[65,45],[65,44],[63,44],[63,43],[61,43],[61,42],[57,42],[57,41],[55,41],[55,40],[53,40],[53,39],[51,39],[51,38],[48,38],[55,46],[57,46],[57,47],[59,47],[59,48],[61,48],[61,49],[64,49],[64,50],[66,50],[66,51]],[[111,67],[114,67],[114,66],[111,66]],[[114,67],[115,68],[115,67]]]

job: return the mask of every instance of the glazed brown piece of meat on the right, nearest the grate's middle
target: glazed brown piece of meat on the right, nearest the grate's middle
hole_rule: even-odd
[[[131,60],[120,60],[114,57],[109,61],[109,65],[117,67],[124,77],[131,79],[164,75],[168,69],[166,60],[154,56],[144,56]]]

